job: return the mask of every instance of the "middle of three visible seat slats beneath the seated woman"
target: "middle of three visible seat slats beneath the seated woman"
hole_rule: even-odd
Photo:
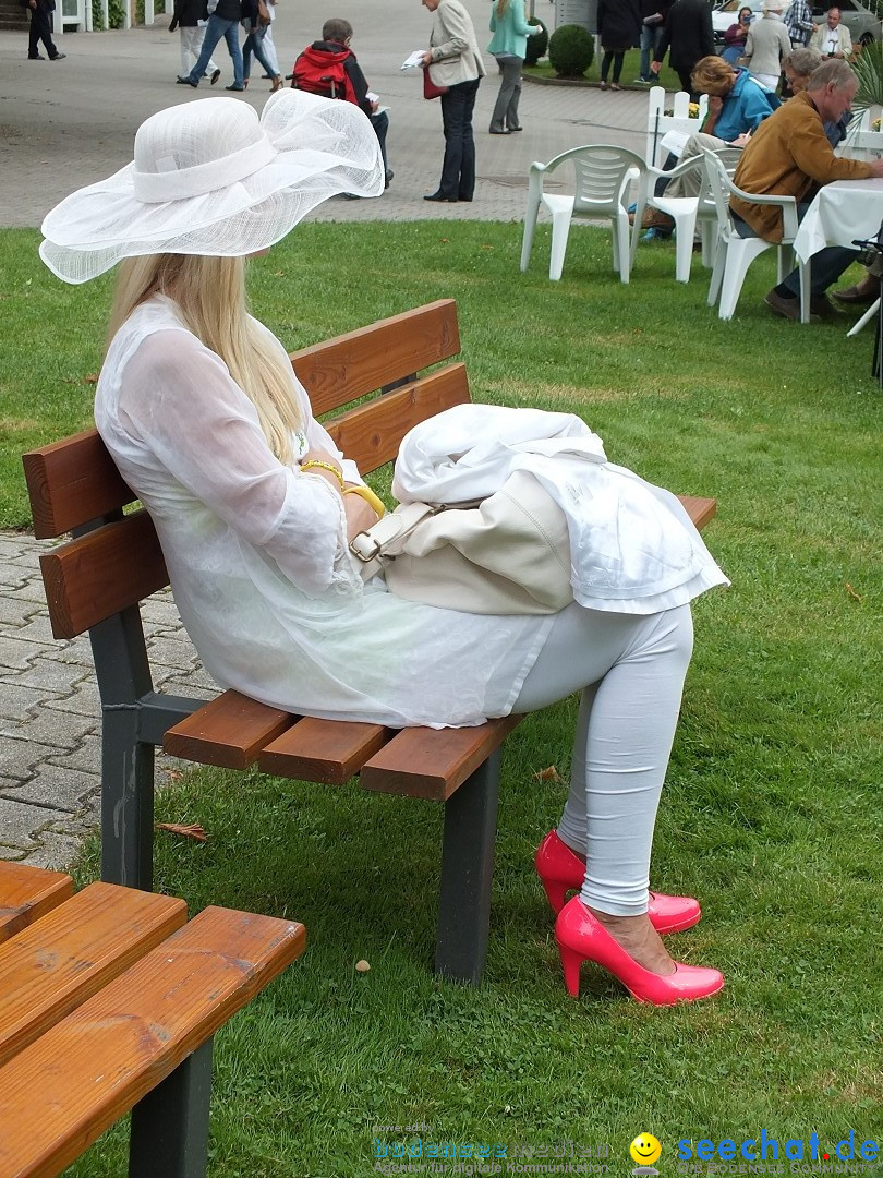
[[[380,724],[305,716],[267,744],[258,757],[261,773],[340,786],[358,773],[392,736]]]

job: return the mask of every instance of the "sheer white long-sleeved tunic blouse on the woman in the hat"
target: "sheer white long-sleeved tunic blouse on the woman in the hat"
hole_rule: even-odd
[[[293,372],[292,391],[307,423],[297,455],[339,454]],[[181,621],[221,687],[391,727],[511,712],[552,617],[437,609],[379,578],[363,588],[338,492],[273,456],[254,406],[170,299],[144,303],[114,337],[95,424],[153,518]]]

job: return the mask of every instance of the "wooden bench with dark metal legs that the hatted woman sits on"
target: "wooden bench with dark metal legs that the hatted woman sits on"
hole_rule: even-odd
[[[470,399],[457,307],[443,299],[294,352],[294,371],[363,472],[392,461],[417,422]],[[418,373],[431,365],[427,375]],[[378,391],[379,390],[379,391]],[[365,399],[367,398],[367,399]],[[294,716],[237,691],[217,700],[153,688],[139,602],[168,584],[150,516],[94,430],[25,455],[34,532],[74,540],[41,557],[53,634],[89,631],[104,715],[102,878],[150,889],[153,750],[201,765],[444,802],[436,968],[477,982],[490,922],[499,749],[520,717],[478,728],[406,728]],[[684,498],[697,527],[713,499]]]

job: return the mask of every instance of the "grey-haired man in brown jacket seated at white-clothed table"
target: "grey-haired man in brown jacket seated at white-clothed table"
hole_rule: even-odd
[[[797,198],[797,216],[803,217],[823,184],[832,180],[863,180],[883,177],[883,160],[865,164],[838,159],[824,132],[825,123],[836,123],[849,110],[856,94],[856,77],[845,61],[826,61],[810,77],[806,90],[789,99],[755,132],[745,148],[733,183],[758,196]],[[756,205],[732,197],[730,209],[742,237],[782,240],[782,210]],[[825,291],[857,258],[855,250],[829,246],[812,256],[810,311],[832,313]],[[794,270],[775,286],[764,302],[786,319],[799,319],[799,276]]]

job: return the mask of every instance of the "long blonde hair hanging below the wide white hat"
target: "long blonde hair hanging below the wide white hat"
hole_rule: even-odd
[[[248,318],[244,259],[180,253],[126,258],[114,291],[108,344],[134,309],[157,293],[173,299],[185,326],[220,356],[254,405],[271,450],[290,464],[292,435],[305,423],[291,365]]]

